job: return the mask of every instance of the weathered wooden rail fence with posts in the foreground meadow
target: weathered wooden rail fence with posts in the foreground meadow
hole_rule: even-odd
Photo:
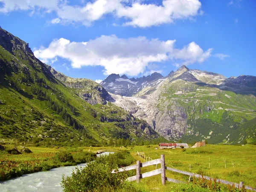
[[[160,169],[156,169],[156,170],[153,170],[151,172],[146,172],[146,173],[143,173],[143,174],[140,173],[140,168],[141,167],[156,165],[156,164],[159,164],[159,163],[161,164]],[[162,180],[163,185],[165,185],[166,180],[170,181],[170,182],[173,182],[173,183],[186,183],[186,182],[181,181],[181,180],[176,180],[176,179],[166,177],[166,174],[165,174],[166,169],[169,170],[169,171],[172,171],[172,172],[177,172],[177,173],[183,174],[183,175],[189,175],[189,180],[190,180],[191,177],[197,177],[197,178],[204,177],[204,179],[206,179],[206,180],[212,180],[212,181],[214,180],[213,177],[208,177],[208,176],[204,176],[204,175],[199,175],[199,174],[195,174],[195,173],[191,173],[191,172],[182,171],[182,170],[179,170],[179,169],[166,167],[165,166],[164,154],[161,154],[160,159],[155,159],[155,160],[147,161],[147,162],[144,162],[144,163],[140,163],[140,160],[138,160],[136,165],[119,168],[117,170],[117,172],[129,171],[129,170],[133,170],[133,169],[136,169],[136,175],[134,175],[132,177],[128,177],[127,180],[128,181],[137,180],[137,183],[140,182],[141,178],[151,177],[153,175],[158,175],[158,174],[161,174],[161,180]],[[115,172],[116,172],[116,170],[112,171],[112,173],[115,173]],[[234,185],[236,188],[239,188],[239,189],[241,189],[243,187],[243,182],[233,183],[233,182],[230,182],[230,181],[227,181],[227,180],[222,180],[222,179],[216,179],[216,182],[223,183],[223,184],[230,185],[230,186]],[[250,186],[244,186],[244,188],[248,189],[248,190],[256,191],[256,188],[253,188],[253,187],[250,187]]]

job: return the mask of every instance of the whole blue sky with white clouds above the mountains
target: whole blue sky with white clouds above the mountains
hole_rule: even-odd
[[[185,64],[256,76],[253,0],[0,0],[0,26],[73,78],[105,79]]]

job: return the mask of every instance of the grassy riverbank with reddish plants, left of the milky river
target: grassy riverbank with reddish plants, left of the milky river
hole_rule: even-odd
[[[96,153],[83,151],[80,148],[37,148],[31,151],[32,153],[23,154],[8,154],[6,151],[0,151],[0,180],[48,171],[60,166],[76,166],[96,158]]]

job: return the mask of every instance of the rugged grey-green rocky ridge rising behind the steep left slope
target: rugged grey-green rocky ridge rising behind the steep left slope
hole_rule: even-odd
[[[70,78],[54,70],[49,65],[47,65],[47,67],[56,79],[61,81],[67,87],[71,88],[74,93],[91,105],[96,105],[97,103],[105,105],[107,101],[114,102],[113,98],[109,95],[105,88],[95,81],[90,79]]]

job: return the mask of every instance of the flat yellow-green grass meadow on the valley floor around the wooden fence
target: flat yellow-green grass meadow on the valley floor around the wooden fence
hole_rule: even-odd
[[[166,166],[180,169],[192,173],[203,174],[206,176],[228,180],[239,183],[244,182],[244,185],[256,187],[256,145],[207,145],[200,148],[189,149],[155,149],[158,145],[147,146],[128,146],[128,147],[77,147],[77,148],[44,148],[44,147],[29,147],[33,154],[10,155],[5,154],[0,156],[0,160],[19,160],[28,161],[32,158],[46,160],[47,154],[67,150],[73,151],[119,151],[128,150],[136,159],[144,162],[145,160],[138,156],[137,151],[144,153],[146,157],[152,159],[160,158],[161,154],[165,154]],[[33,157],[32,157],[33,156]],[[135,164],[136,162],[134,162]],[[210,163],[210,167],[209,167]],[[226,168],[225,168],[226,164]],[[190,169],[189,170],[189,166]],[[157,165],[157,169],[160,164]],[[156,169],[156,166],[148,166],[141,168],[141,172],[148,172]],[[189,176],[182,175],[166,170],[166,177],[177,180],[188,181]],[[134,181],[136,184],[136,182]],[[172,191],[172,187],[177,184],[166,181],[166,186],[161,184],[161,176],[143,178],[138,187],[146,191]]]

